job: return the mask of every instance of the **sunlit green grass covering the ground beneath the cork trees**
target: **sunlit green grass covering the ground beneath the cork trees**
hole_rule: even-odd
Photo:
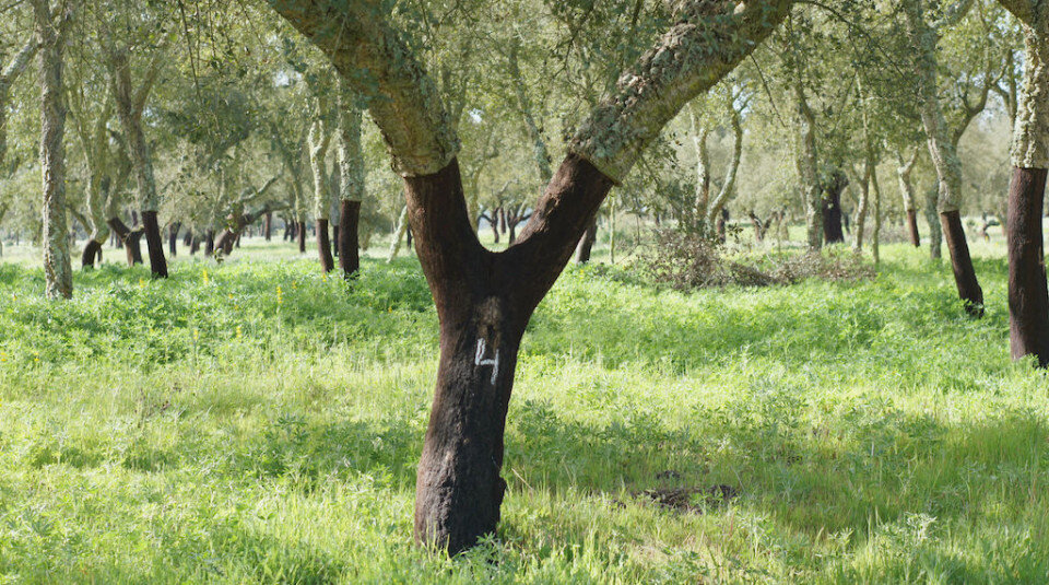
[[[411,540],[417,264],[347,289],[276,247],[78,271],[69,303],[0,265],[0,583],[1049,574],[1049,383],[1009,359],[1000,244],[975,246],[982,320],[903,246],[874,281],[763,290],[570,268],[524,338],[498,535],[453,560]],[[634,495],[717,484],[740,495],[702,513]]]

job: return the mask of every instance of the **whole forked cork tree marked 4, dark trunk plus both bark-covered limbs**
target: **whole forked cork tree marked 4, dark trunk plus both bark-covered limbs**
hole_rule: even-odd
[[[455,553],[495,530],[506,490],[499,477],[506,412],[532,312],[612,185],[688,101],[782,22],[791,3],[681,2],[676,24],[580,125],[518,242],[492,253],[471,225],[458,138],[436,86],[384,11],[364,0],[270,1],[343,79],[384,97],[372,100],[369,112],[404,179],[440,323],[437,388],[416,476],[416,540]],[[333,19],[340,26],[331,26]]]

